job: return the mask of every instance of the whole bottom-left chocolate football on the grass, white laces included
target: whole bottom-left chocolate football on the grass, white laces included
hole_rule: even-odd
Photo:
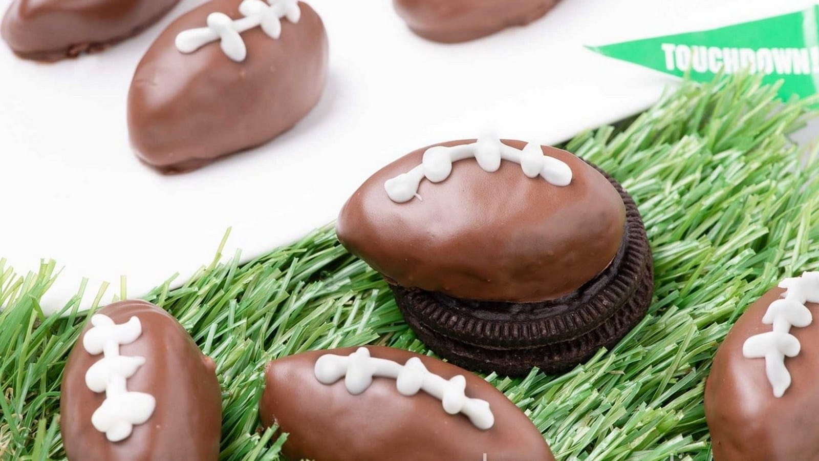
[[[219,459],[215,364],[153,304],[97,311],[71,350],[60,394],[70,461]]]

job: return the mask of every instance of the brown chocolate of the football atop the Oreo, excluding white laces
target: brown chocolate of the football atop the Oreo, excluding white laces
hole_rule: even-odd
[[[391,283],[455,298],[539,302],[577,290],[617,254],[625,205],[609,180],[571,153],[543,147],[572,169],[565,187],[528,178],[513,162],[488,173],[468,159],[440,183],[423,180],[423,201],[392,202],[384,182],[419,165],[426,149],[371,176],[338,217],[346,249]]]

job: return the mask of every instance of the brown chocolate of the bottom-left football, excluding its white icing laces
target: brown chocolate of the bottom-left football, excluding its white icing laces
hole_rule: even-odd
[[[221,391],[215,365],[201,354],[178,322],[145,301],[111,304],[98,313],[115,323],[138,317],[143,332],[120,354],[142,356],[145,363],[127,381],[128,390],[146,392],[156,409],[144,424],[133,427],[125,440],[111,442],[91,424],[91,415],[105,393],[85,384],[85,372],[102,354],[91,355],[83,337],[71,350],[61,384],[60,431],[72,461],[208,461],[219,459],[222,421]]]

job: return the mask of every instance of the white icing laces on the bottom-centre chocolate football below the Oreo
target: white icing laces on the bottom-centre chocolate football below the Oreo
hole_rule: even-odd
[[[423,390],[441,400],[446,413],[464,413],[478,429],[486,430],[495,424],[489,402],[470,399],[464,393],[466,378],[458,375],[447,381],[429,372],[417,357],[409,358],[405,365],[401,365],[386,358],[370,357],[369,350],[361,347],[346,357],[322,355],[315,363],[314,373],[319,382],[328,385],[343,377],[344,385],[352,395],[367,390],[373,383],[373,377],[391,378],[396,380],[396,388],[401,395],[409,397]]]

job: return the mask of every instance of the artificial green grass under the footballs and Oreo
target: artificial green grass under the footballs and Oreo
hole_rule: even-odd
[[[486,378],[558,459],[710,459],[703,386],[717,345],[779,279],[819,267],[819,184],[810,179],[819,162],[800,168],[787,139],[810,103],[782,105],[775,88],[748,76],[686,83],[622,130],[568,143],[636,199],[656,292],[634,331],[572,372]],[[221,459],[277,459],[283,439],[259,431],[256,416],[270,359],[364,344],[426,350],[387,285],[332,227],[247,264],[238,254],[217,260],[146,299],[179,318],[218,364]],[[0,261],[0,459],[64,457],[59,383],[86,316],[72,299],[67,318],[43,317],[38,300],[54,276],[53,262],[16,276]]]

